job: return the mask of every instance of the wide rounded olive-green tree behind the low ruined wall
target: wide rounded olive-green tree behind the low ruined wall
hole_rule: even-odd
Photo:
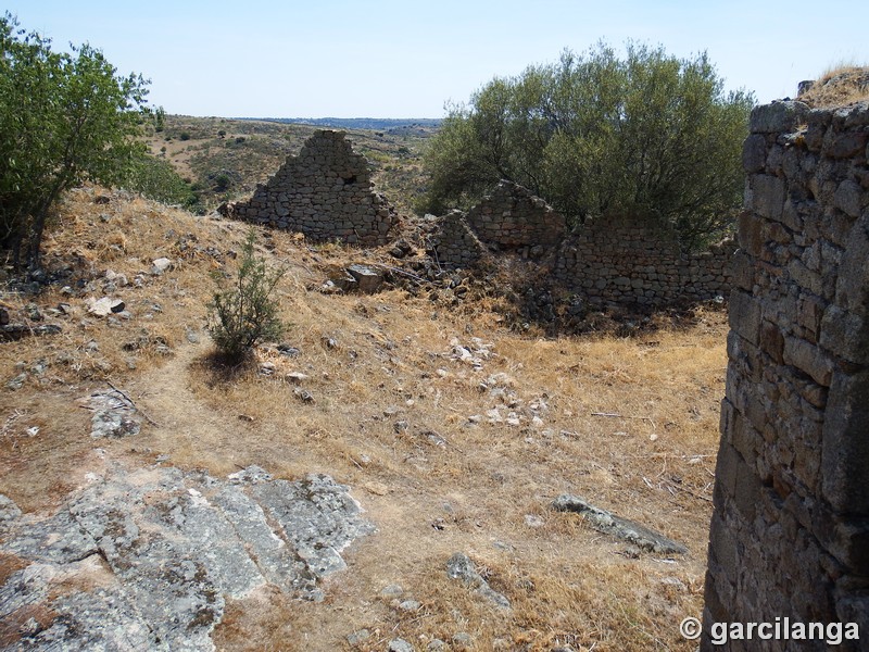
[[[566,50],[449,108],[426,155],[431,184],[420,208],[466,206],[506,178],[574,223],[632,216],[697,247],[733,223],[753,104],[751,93],[723,91],[705,53]]]

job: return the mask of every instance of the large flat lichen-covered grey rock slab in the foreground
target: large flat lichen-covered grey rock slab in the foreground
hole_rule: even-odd
[[[375,529],[348,491],[325,475],[155,466],[97,477],[49,516],[0,496],[0,555],[30,562],[0,586],[0,620],[14,626],[0,634],[15,632],[0,647],[213,650],[227,598],[274,585],[322,599],[317,580]]]

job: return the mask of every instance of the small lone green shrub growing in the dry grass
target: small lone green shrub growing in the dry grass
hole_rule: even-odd
[[[241,263],[235,287],[214,293],[209,330],[218,352],[231,364],[247,358],[264,340],[277,339],[286,330],[278,317],[278,302],[272,292],[286,269],[269,271],[265,260],[254,255],[256,231],[251,228],[241,248]]]

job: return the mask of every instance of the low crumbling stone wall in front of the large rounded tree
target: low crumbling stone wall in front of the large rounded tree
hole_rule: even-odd
[[[489,251],[540,261],[554,278],[591,303],[659,306],[730,291],[735,243],[683,254],[675,236],[637,221],[587,221],[572,233],[564,217],[529,190],[501,181],[467,214],[441,221],[433,242],[441,264],[467,267]]]

